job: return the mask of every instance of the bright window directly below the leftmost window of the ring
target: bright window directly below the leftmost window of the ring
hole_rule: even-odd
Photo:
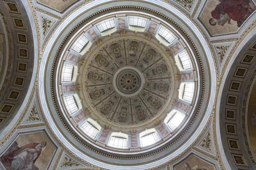
[[[77,94],[71,94],[63,96],[64,105],[67,109],[67,112],[72,115],[82,108],[81,102]]]

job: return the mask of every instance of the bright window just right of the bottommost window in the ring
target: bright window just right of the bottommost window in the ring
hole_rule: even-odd
[[[143,134],[145,132],[146,134]],[[149,129],[149,130],[146,130],[145,132],[142,132],[140,134],[141,136],[140,141],[141,141],[142,147],[146,147],[160,141],[160,137],[158,136],[155,129]]]

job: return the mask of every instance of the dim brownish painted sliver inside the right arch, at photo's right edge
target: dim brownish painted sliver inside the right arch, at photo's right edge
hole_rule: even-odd
[[[256,82],[254,82],[253,90],[250,94],[247,111],[248,135],[253,154],[256,156]]]

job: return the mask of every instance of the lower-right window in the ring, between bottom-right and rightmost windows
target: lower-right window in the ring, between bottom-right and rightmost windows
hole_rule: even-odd
[[[175,120],[177,123],[172,123],[171,121],[173,119],[175,119],[175,115],[176,116],[182,116],[182,119],[180,120]],[[180,124],[183,122],[185,118],[185,115],[180,113],[179,111],[177,110],[172,110],[167,116],[166,116],[166,119],[164,120],[164,123],[170,128],[171,132],[173,132],[177,127],[180,126]]]

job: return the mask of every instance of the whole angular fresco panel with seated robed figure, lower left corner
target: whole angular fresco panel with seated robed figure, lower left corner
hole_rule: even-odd
[[[43,131],[19,135],[1,156],[6,170],[46,170],[56,148]]]

